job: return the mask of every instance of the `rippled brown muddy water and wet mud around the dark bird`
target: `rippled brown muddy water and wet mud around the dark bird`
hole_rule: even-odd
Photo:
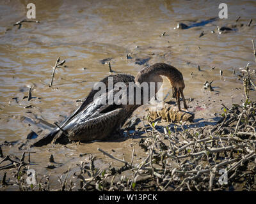
[[[36,20],[40,23],[24,22],[18,29],[13,24],[26,18],[28,3],[0,2],[0,143],[23,140],[31,129],[38,131],[38,126],[47,128],[35,125],[38,119],[53,124],[67,117],[80,104],[76,100],[84,99],[95,82],[108,76],[108,65],[100,62],[103,59],[110,59],[114,71],[132,75],[154,62],[166,62],[179,68],[186,84],[184,95],[195,99],[189,103],[189,108],[197,118],[204,119],[220,113],[221,103],[240,103],[243,85],[237,79],[239,68],[248,62],[255,68],[251,42],[252,38],[256,40],[255,1],[226,1],[228,19],[217,18],[204,26],[186,30],[173,28],[177,22],[193,24],[218,17],[219,3],[35,1]],[[236,24],[238,16],[241,16],[238,23],[244,25],[252,18],[251,26],[218,34],[216,25]],[[202,31],[204,36],[199,38]],[[127,53],[131,53],[132,59],[126,59]],[[58,56],[66,59],[67,67],[57,69],[50,88],[52,66]],[[136,59],[149,60],[140,65]],[[202,71],[197,70],[198,64]],[[214,80],[214,92],[202,89],[205,80]],[[28,96],[28,86],[32,86],[34,98],[31,101],[23,99]],[[164,82],[164,92],[169,89]],[[256,98],[255,92],[251,92],[251,97]],[[27,105],[32,108],[24,108]],[[139,115],[143,115],[143,111]],[[97,163],[104,166],[111,160],[99,154],[97,147],[108,152],[115,150],[112,151],[115,156],[130,159],[131,143],[136,147],[138,139],[47,145],[33,149],[36,153],[31,154],[31,161],[36,163],[33,168],[40,173],[62,173],[68,166],[86,159],[79,154],[93,153],[99,157]],[[140,161],[143,151],[140,148],[136,151]],[[21,154],[5,146],[3,152]],[[47,170],[45,166],[51,154],[59,166]]]

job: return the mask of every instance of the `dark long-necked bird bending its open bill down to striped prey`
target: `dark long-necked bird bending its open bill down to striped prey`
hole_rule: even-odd
[[[153,96],[159,91],[157,83],[163,83],[163,77],[168,78],[170,85],[175,93],[175,98],[179,110],[180,108],[180,95],[184,103],[184,108],[188,109],[186,100],[184,98],[183,90],[185,88],[182,73],[175,67],[166,63],[156,63],[152,66],[141,69],[134,78],[128,74],[109,75],[103,78],[100,82],[106,85],[106,92],[100,96],[96,96],[98,90],[92,89],[88,97],[84,99],[83,103],[77,110],[72,113],[67,119],[61,122],[57,128],[54,128],[49,134],[43,136],[33,146],[45,145],[47,143],[67,143],[68,141],[92,141],[102,140],[108,138],[118,129],[122,128],[123,124],[129,117],[131,117],[134,110],[143,105],[145,101],[144,87],[141,84],[153,83],[154,89]],[[108,98],[109,94],[115,95],[119,90],[109,89],[109,77],[113,77],[113,85],[118,82],[125,84],[125,91],[122,92],[127,100],[132,98],[132,103],[102,103]],[[130,83],[134,86],[131,88]],[[134,89],[132,94],[129,89]],[[139,90],[139,91],[138,91]],[[131,91],[131,90],[130,90]],[[137,92],[136,92],[137,91]],[[136,103],[136,97],[141,96],[139,102]],[[152,98],[152,94],[148,97],[148,101]],[[142,102],[143,101],[143,102]],[[108,101],[105,101],[108,102]],[[119,100],[120,102],[120,100]],[[129,101],[131,102],[131,101]],[[65,140],[63,140],[65,138]]]

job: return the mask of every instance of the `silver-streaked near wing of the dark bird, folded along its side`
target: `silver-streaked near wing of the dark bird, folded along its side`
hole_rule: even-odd
[[[112,89],[94,99],[84,110],[61,127],[61,132],[54,138],[54,143],[67,137],[71,140],[81,141],[99,140],[119,128],[125,120],[126,110],[122,104],[108,104],[108,94],[113,93],[115,96],[116,92],[118,90]]]

